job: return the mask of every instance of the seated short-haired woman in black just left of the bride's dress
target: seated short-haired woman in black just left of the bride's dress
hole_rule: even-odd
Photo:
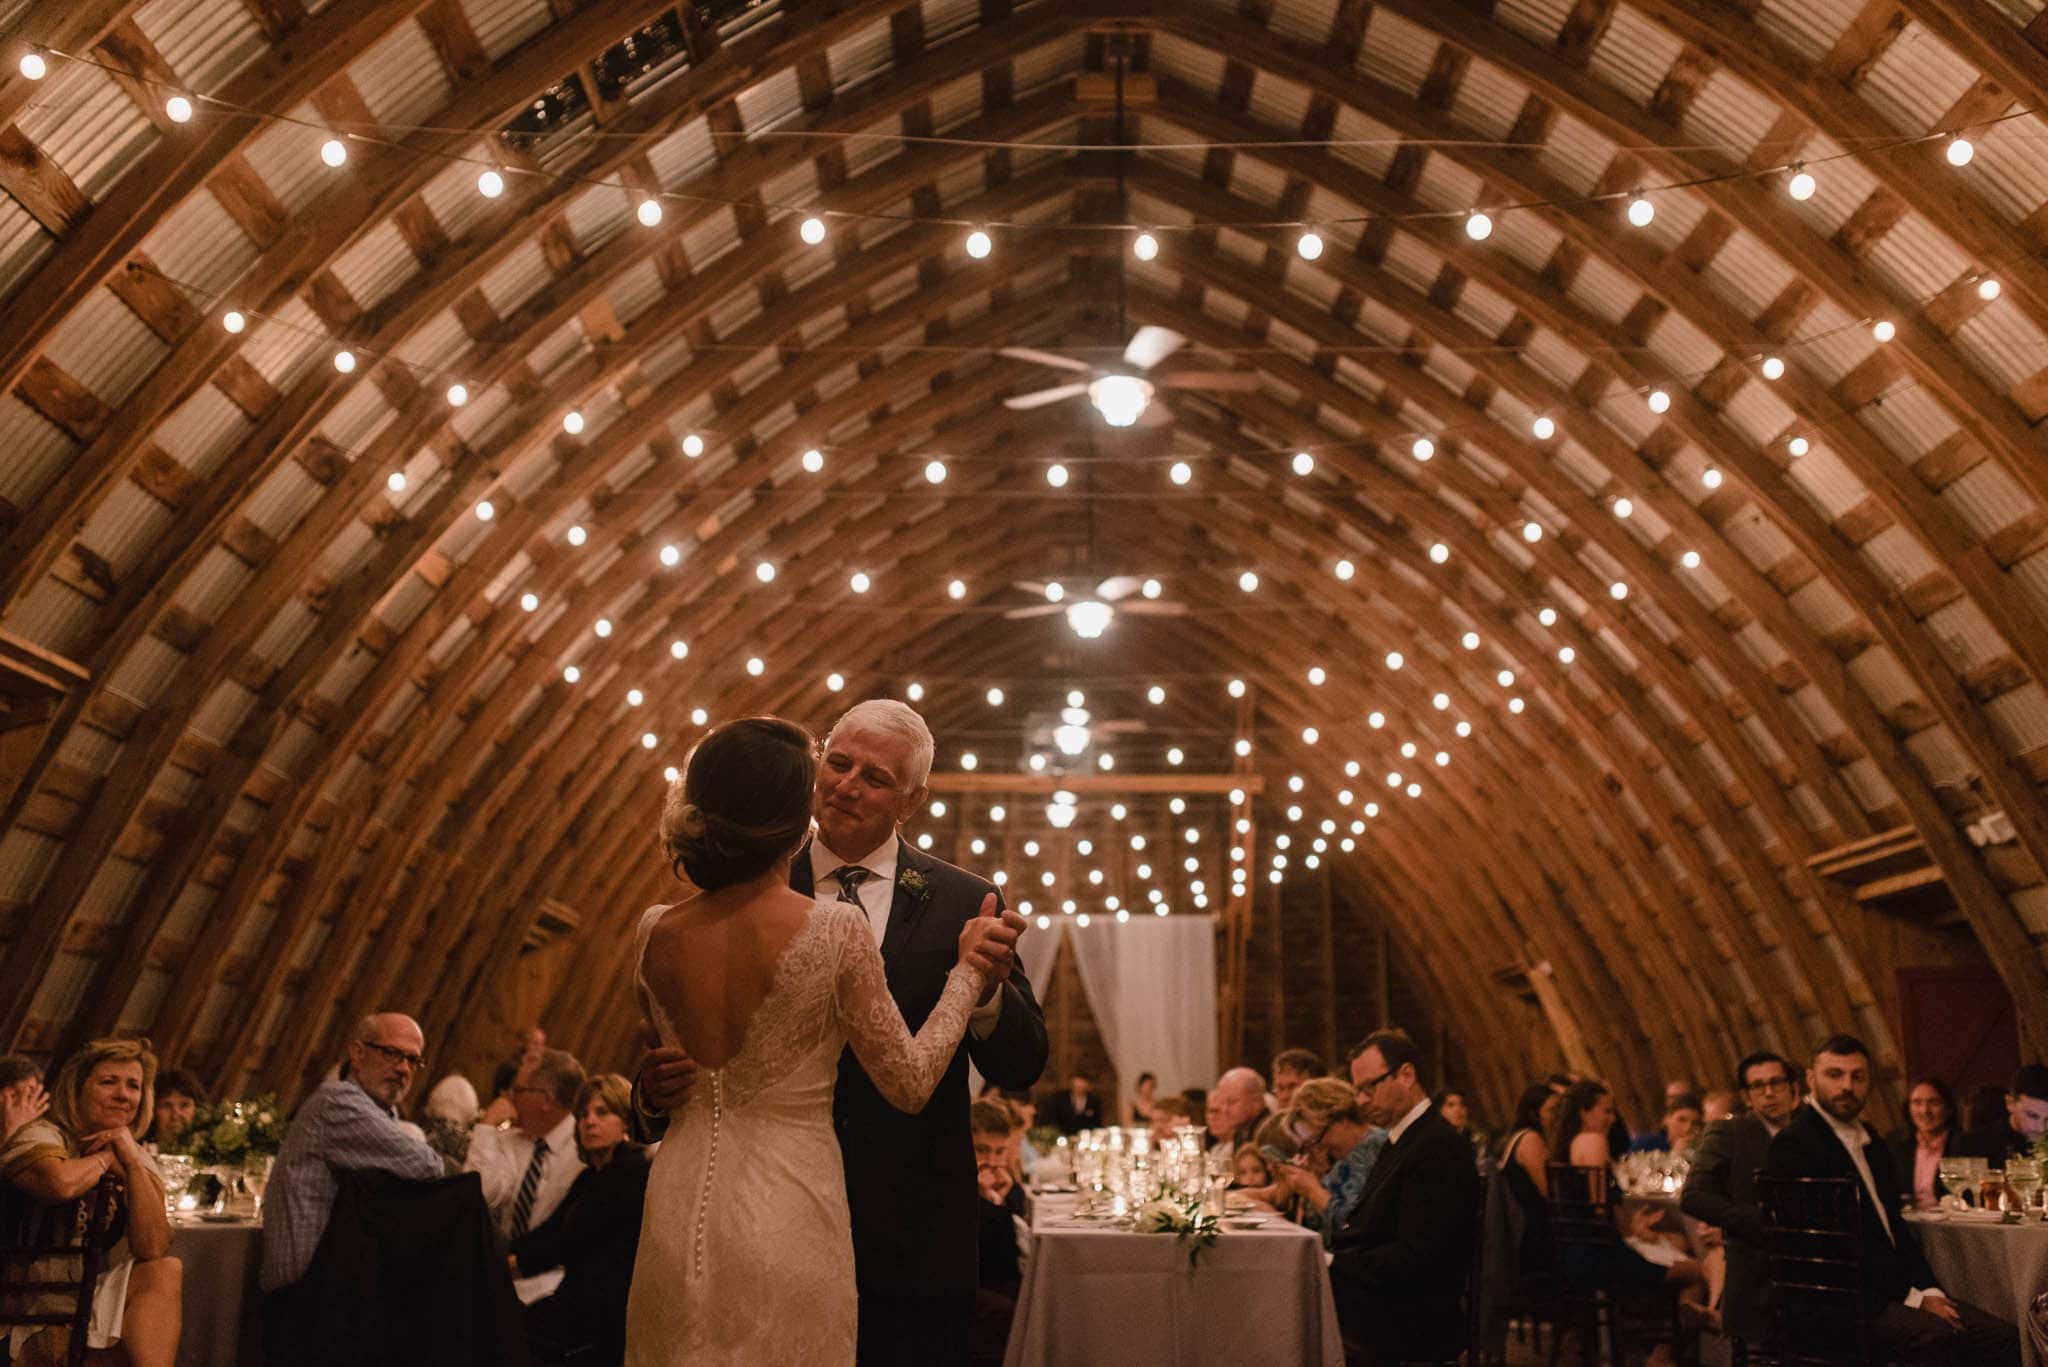
[[[526,1306],[526,1342],[537,1361],[616,1365],[627,1351],[647,1148],[627,1140],[633,1082],[614,1072],[584,1082],[571,1111],[584,1170],[553,1215],[512,1240],[510,1269],[514,1279],[561,1269],[555,1293]]]

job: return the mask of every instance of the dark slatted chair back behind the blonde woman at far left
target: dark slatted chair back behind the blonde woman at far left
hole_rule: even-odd
[[[86,1361],[92,1291],[119,1199],[113,1178],[72,1201],[0,1201],[0,1328],[70,1328],[63,1361]]]

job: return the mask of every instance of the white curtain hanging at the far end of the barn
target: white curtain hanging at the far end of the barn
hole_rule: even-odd
[[[1092,916],[1061,930],[1124,1094],[1141,1072],[1159,1074],[1159,1096],[1217,1080],[1214,916]]]

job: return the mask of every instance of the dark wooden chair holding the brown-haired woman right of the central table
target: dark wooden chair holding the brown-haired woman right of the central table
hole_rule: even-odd
[[[1544,1168],[1550,1185],[1550,1246],[1556,1254],[1556,1332],[1550,1363],[1559,1361],[1565,1330],[1579,1336],[1585,1367],[1602,1361],[1610,1344],[1614,1363],[1649,1357],[1661,1342],[1683,1349],[1688,1336],[1677,1318],[1677,1289],[1614,1285],[1602,1269],[1636,1256],[1614,1226],[1614,1183],[1606,1168],[1552,1162]]]

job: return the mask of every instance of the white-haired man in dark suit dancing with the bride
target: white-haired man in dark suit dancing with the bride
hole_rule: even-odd
[[[989,1082],[1026,1090],[1044,1070],[1044,1014],[1016,961],[1024,918],[1001,908],[985,879],[918,853],[903,822],[924,807],[932,732],[889,699],[856,703],[825,738],[813,814],[817,836],[797,851],[791,887],[858,904],[868,918],[889,992],[915,1031],[932,1014],[958,959],[961,926],[981,918],[995,963],[967,1039],[918,1115],[891,1107],[852,1051],[840,1058],[831,1123],[846,1162],[860,1289],[860,1367],[965,1367],[975,1316],[975,1144],[967,1060]],[[637,1082],[641,1119],[666,1125],[690,1094],[696,1066],[653,1047]]]

